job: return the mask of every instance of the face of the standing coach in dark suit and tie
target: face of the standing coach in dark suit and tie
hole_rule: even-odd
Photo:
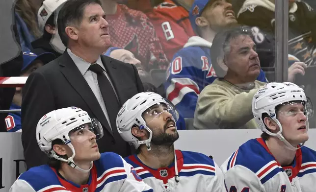
[[[108,23],[105,13],[99,4],[85,7],[78,29],[78,42],[84,47],[105,51],[111,45]]]

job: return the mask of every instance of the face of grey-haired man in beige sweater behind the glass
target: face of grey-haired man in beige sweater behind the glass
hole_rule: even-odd
[[[260,61],[256,44],[248,35],[239,35],[230,42],[230,52],[225,53],[228,75],[239,80],[253,82],[260,73]]]

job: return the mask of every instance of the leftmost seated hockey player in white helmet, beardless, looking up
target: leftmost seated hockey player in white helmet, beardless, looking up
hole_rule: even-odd
[[[101,124],[77,107],[46,114],[36,140],[51,161],[22,173],[10,192],[153,192],[121,156],[100,154],[102,136]]]

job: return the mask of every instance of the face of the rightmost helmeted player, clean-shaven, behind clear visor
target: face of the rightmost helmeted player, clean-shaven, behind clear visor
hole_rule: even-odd
[[[278,120],[282,125],[282,134],[290,144],[295,146],[308,140],[307,117],[301,103],[282,106],[278,111]]]

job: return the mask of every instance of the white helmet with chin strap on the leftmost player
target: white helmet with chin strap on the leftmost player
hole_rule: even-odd
[[[50,158],[66,162],[72,168],[76,168],[82,172],[88,172],[92,168],[92,162],[89,169],[81,169],[73,160],[76,152],[74,146],[71,144],[70,132],[79,129],[88,129],[89,131],[92,131],[94,135],[96,135],[96,140],[103,137],[103,128],[100,122],[96,119],[91,119],[88,113],[82,109],[68,107],[51,111],[44,115],[37,123],[37,144]],[[55,153],[52,142],[56,139],[60,139],[64,144],[67,144],[71,148],[73,152],[71,157],[64,159]]]

